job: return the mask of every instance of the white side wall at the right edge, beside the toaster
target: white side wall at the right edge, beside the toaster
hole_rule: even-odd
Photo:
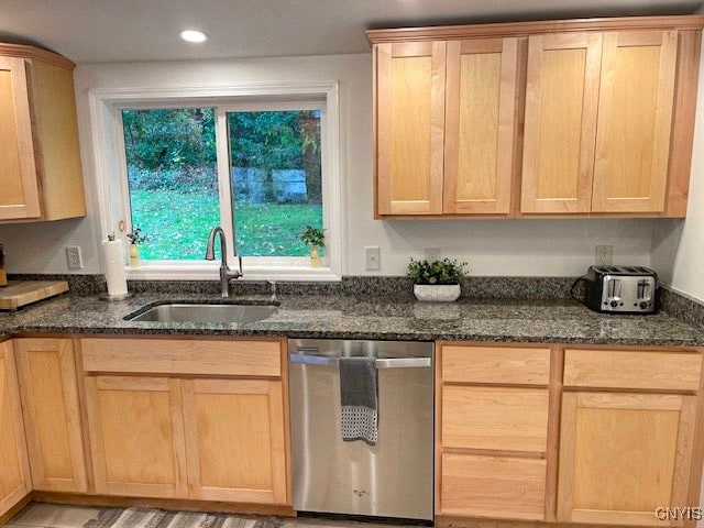
[[[697,100],[686,219],[654,228],[652,265],[673,288],[704,301],[704,53]]]

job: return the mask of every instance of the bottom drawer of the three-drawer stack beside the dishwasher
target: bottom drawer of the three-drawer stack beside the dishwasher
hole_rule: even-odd
[[[544,508],[544,460],[442,455],[442,515],[542,520]]]

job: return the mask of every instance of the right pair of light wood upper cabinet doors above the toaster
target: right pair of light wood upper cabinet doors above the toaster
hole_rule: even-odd
[[[662,212],[676,31],[529,38],[521,212]]]

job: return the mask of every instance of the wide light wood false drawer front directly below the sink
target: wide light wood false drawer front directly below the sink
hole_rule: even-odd
[[[84,370],[210,376],[282,375],[279,341],[82,339]]]

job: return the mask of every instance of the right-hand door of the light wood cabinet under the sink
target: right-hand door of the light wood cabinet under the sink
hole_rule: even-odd
[[[286,504],[282,382],[183,384],[190,498]]]

